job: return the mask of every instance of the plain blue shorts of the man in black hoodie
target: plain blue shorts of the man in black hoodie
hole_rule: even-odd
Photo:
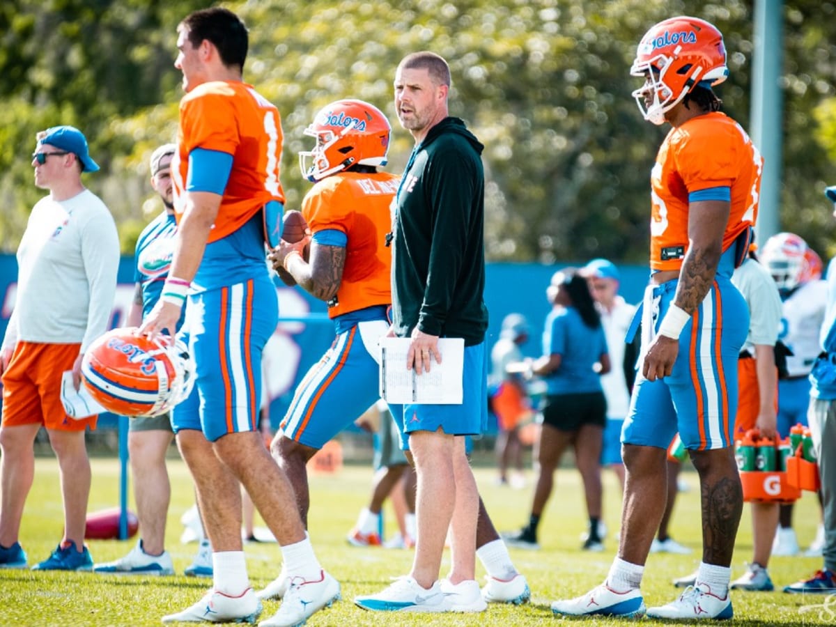
[[[487,428],[487,355],[485,343],[465,347],[464,402],[461,405],[390,405],[400,431],[400,448],[410,450],[410,433],[437,431],[479,436]],[[468,438],[469,440],[470,438]],[[469,450],[471,442],[466,443]]]

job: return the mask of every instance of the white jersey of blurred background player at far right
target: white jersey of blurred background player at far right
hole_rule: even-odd
[[[784,300],[778,339],[793,351],[787,356],[789,376],[808,375],[813,361],[822,352],[819,334],[827,306],[828,284],[825,281],[803,283]]]

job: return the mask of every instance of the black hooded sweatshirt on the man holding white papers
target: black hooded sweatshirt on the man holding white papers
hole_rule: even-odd
[[[415,146],[394,203],[395,334],[481,344],[487,329],[484,146],[447,117]]]

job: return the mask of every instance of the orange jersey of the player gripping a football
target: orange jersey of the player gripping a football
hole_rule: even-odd
[[[302,201],[302,215],[318,232],[345,234],[345,266],[328,314],[336,318],[392,302],[390,204],[400,179],[388,172],[340,172],[319,181]]]

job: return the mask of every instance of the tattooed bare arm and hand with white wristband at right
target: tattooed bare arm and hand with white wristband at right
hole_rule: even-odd
[[[686,314],[696,311],[714,282],[729,211],[727,201],[697,201],[688,206],[688,252],[674,297],[674,304]],[[645,356],[643,374],[651,381],[670,375],[678,353],[679,339],[656,334]]]

